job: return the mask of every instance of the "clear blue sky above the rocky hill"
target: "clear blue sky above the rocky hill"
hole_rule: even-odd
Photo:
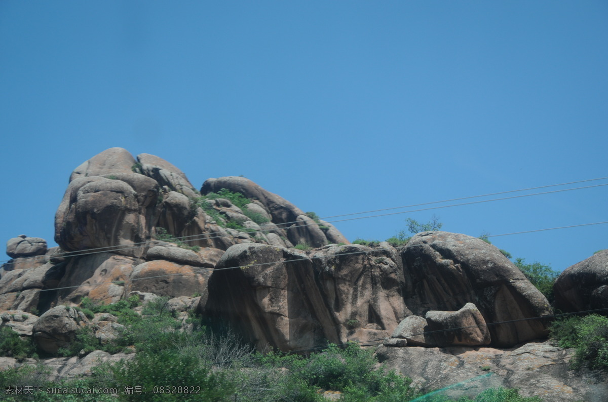
[[[2,241],[72,169],[158,155],[320,216],[608,176],[605,1],[0,1]],[[595,182],[606,184],[608,180]],[[593,183],[591,183],[593,184]],[[608,220],[608,186],[336,223],[386,239]],[[492,239],[561,271],[608,225]]]

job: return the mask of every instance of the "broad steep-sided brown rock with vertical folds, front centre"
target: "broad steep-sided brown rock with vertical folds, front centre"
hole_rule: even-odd
[[[270,245],[234,245],[216,265],[209,298],[199,310],[237,326],[260,349],[385,338],[407,313],[402,271],[379,257],[389,251],[370,256],[368,250],[328,246],[306,254]],[[240,268],[223,269],[230,267]]]

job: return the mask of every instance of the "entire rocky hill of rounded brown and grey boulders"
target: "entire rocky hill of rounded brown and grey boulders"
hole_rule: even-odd
[[[350,244],[331,223],[244,177],[197,190],[162,158],[111,148],[72,172],[55,241],[10,239],[12,259],[0,270],[0,325],[46,353],[69,346],[83,325],[100,341],[120,332],[108,317],[61,306],[167,296],[183,319],[196,312],[229,325],[258,350],[383,345],[384,361],[428,389],[488,366],[492,381],[528,395],[569,401],[595,392],[589,378],[567,374],[567,351],[538,343],[548,335],[542,317],[553,312],[547,299],[496,247],[464,234]],[[556,301],[564,311],[606,307],[606,272],[608,251],[568,268]],[[81,373],[84,359],[70,367],[51,360]],[[0,368],[17,364],[0,358]]]

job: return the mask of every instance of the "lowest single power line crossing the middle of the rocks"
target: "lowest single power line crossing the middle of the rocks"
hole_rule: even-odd
[[[576,227],[585,227],[585,226],[592,226],[592,225],[603,225],[608,223],[608,221],[605,222],[593,222],[593,223],[581,223],[580,225],[570,225],[570,226],[562,226],[562,227],[556,227],[556,228],[545,228],[545,229],[536,229],[536,230],[527,230],[527,231],[520,231],[520,232],[513,232],[513,233],[503,233],[503,234],[494,234],[488,237],[499,237],[499,236],[511,236],[513,234],[525,234],[525,233],[535,233],[535,232],[541,232],[541,231],[549,231],[549,230],[559,230],[559,229],[568,229],[568,228],[576,228]],[[445,244],[445,243],[451,243],[451,242],[460,242],[463,240],[478,240],[477,237],[469,237],[468,239],[460,239],[460,240],[443,240],[440,242],[434,242],[434,244]],[[416,247],[416,246],[424,246],[427,244],[415,244],[415,245],[410,245],[409,247]],[[345,246],[349,246],[349,245],[345,245]],[[350,245],[351,247],[353,247],[352,245]],[[340,246],[339,246],[340,247]],[[344,247],[344,246],[342,246]],[[387,250],[386,248],[375,248],[372,250],[359,250],[359,251],[350,251],[348,253],[339,253],[339,254],[333,254],[332,256],[311,256],[311,257],[303,257],[300,259],[291,259],[291,260],[285,260],[285,261],[271,261],[271,262],[260,262],[257,264],[247,264],[247,268],[251,268],[251,267],[260,267],[263,265],[272,265],[272,264],[277,264],[277,263],[288,263],[288,262],[297,262],[297,261],[311,261],[313,259],[323,259],[323,258],[330,258],[330,257],[340,257],[340,256],[349,256],[349,255],[355,255],[355,254],[365,254],[365,253],[375,253],[375,252],[379,252],[379,251],[385,251]],[[185,266],[190,266],[190,265],[185,265]],[[200,268],[198,271],[192,271],[192,272],[187,272],[187,273],[172,273],[172,274],[166,274],[166,275],[156,275],[156,276],[147,276],[145,278],[134,278],[134,279],[123,279],[123,282],[134,282],[134,281],[142,281],[144,279],[156,279],[156,278],[167,278],[168,276],[188,276],[188,275],[193,275],[193,274],[200,274],[204,271],[224,271],[224,270],[233,270],[233,269],[237,269],[237,268],[242,268],[240,265],[237,267],[224,267],[224,268]],[[83,287],[83,286],[91,286],[91,287],[97,287],[97,286],[101,286],[101,285],[109,285],[109,284],[113,284],[114,282],[97,282],[94,284],[87,284],[87,285],[74,285],[74,286],[66,286],[66,287],[59,287],[59,288],[49,288],[49,289],[40,289],[38,291],[51,291],[51,290],[64,290],[64,289],[71,289],[71,288],[78,288],[78,287]]]

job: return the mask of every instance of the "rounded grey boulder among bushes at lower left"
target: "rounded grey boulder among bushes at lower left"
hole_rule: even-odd
[[[88,324],[86,316],[75,308],[58,305],[38,318],[33,325],[33,339],[41,350],[57,353],[74,341],[76,331]]]

